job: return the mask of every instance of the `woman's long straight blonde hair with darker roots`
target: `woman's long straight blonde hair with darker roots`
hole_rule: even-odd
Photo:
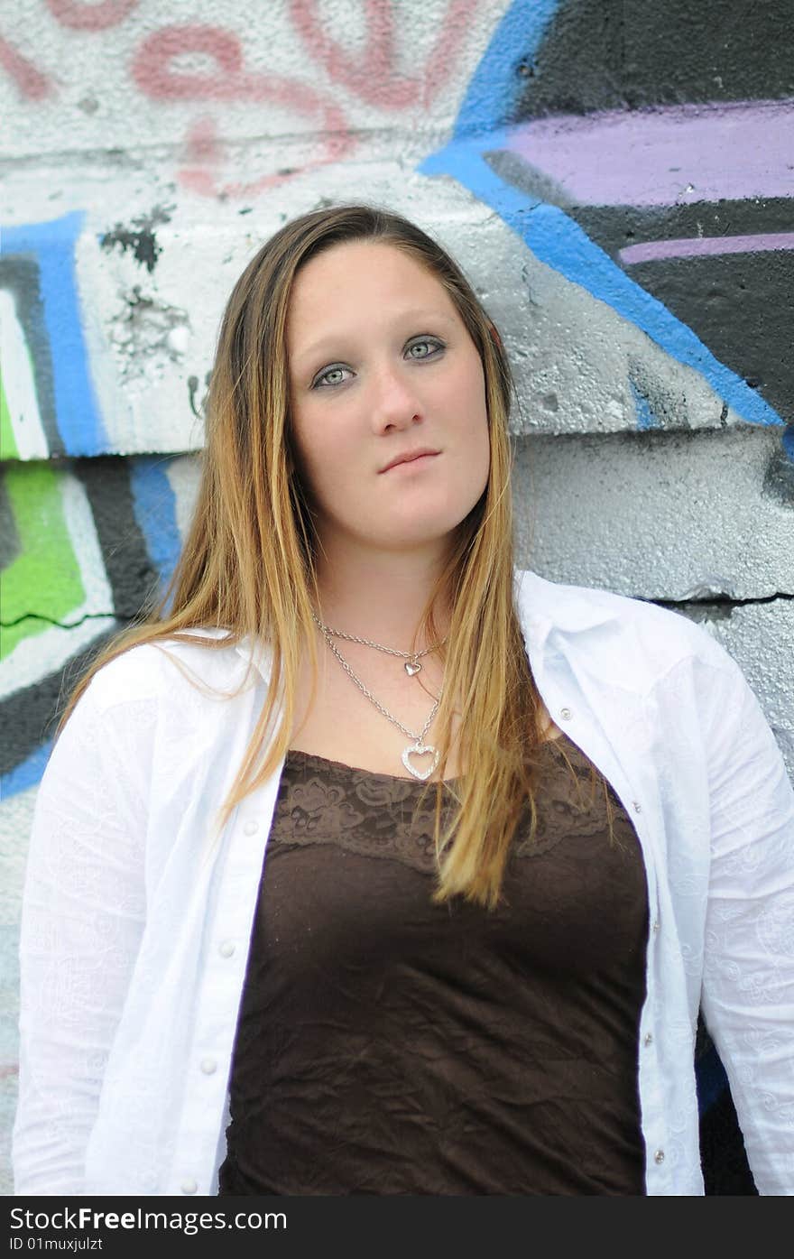
[[[443,599],[452,619],[440,648],[444,687],[433,738],[440,752],[434,784],[434,899],[442,903],[463,895],[493,909],[511,840],[527,806],[530,833],[536,827],[536,771],[544,738],[542,701],[513,599],[511,374],[498,332],[458,266],[396,214],[360,205],[305,214],[281,228],[238,279],[211,373],[198,501],[170,587],[157,607],[93,661],[70,696],[59,730],[97,670],[138,643],[176,640],[218,650],[250,636],[269,647],[272,671],[221,822],[281,763],[293,728],[305,650],[317,685],[312,608],[320,607],[317,538],[289,417],[287,312],[294,277],[310,258],[361,239],[391,244],[435,276],[454,302],[484,374],[488,483],[456,531],[414,646],[422,637],[438,641],[435,609]],[[228,633],[220,640],[185,635],[209,627]],[[442,833],[440,779],[456,710],[462,718],[458,755],[467,772],[456,781],[456,807]]]

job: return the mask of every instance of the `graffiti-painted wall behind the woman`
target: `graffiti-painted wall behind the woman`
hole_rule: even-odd
[[[521,562],[705,622],[794,774],[793,47],[785,0],[6,6],[0,1190],[55,715],[172,570],[219,315],[287,218],[452,249],[516,375]],[[708,1188],[752,1192],[698,1055]]]

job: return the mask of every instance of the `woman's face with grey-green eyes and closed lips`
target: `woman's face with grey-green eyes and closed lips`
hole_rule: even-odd
[[[440,553],[489,468],[482,364],[443,285],[394,246],[333,246],[296,277],[287,350],[323,548]]]

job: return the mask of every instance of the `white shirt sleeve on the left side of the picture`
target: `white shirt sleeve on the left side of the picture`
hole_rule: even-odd
[[[20,932],[18,1195],[84,1191],[87,1142],[143,929],[152,704],[108,705],[102,691],[101,671],[36,796]]]

